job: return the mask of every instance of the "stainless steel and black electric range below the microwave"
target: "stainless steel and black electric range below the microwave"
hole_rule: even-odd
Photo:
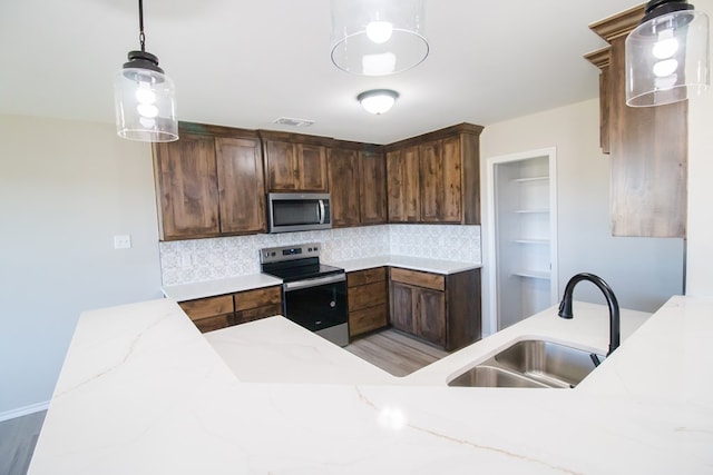
[[[260,250],[263,274],[282,279],[286,318],[339,346],[349,344],[346,275],[320,263],[320,244]]]

